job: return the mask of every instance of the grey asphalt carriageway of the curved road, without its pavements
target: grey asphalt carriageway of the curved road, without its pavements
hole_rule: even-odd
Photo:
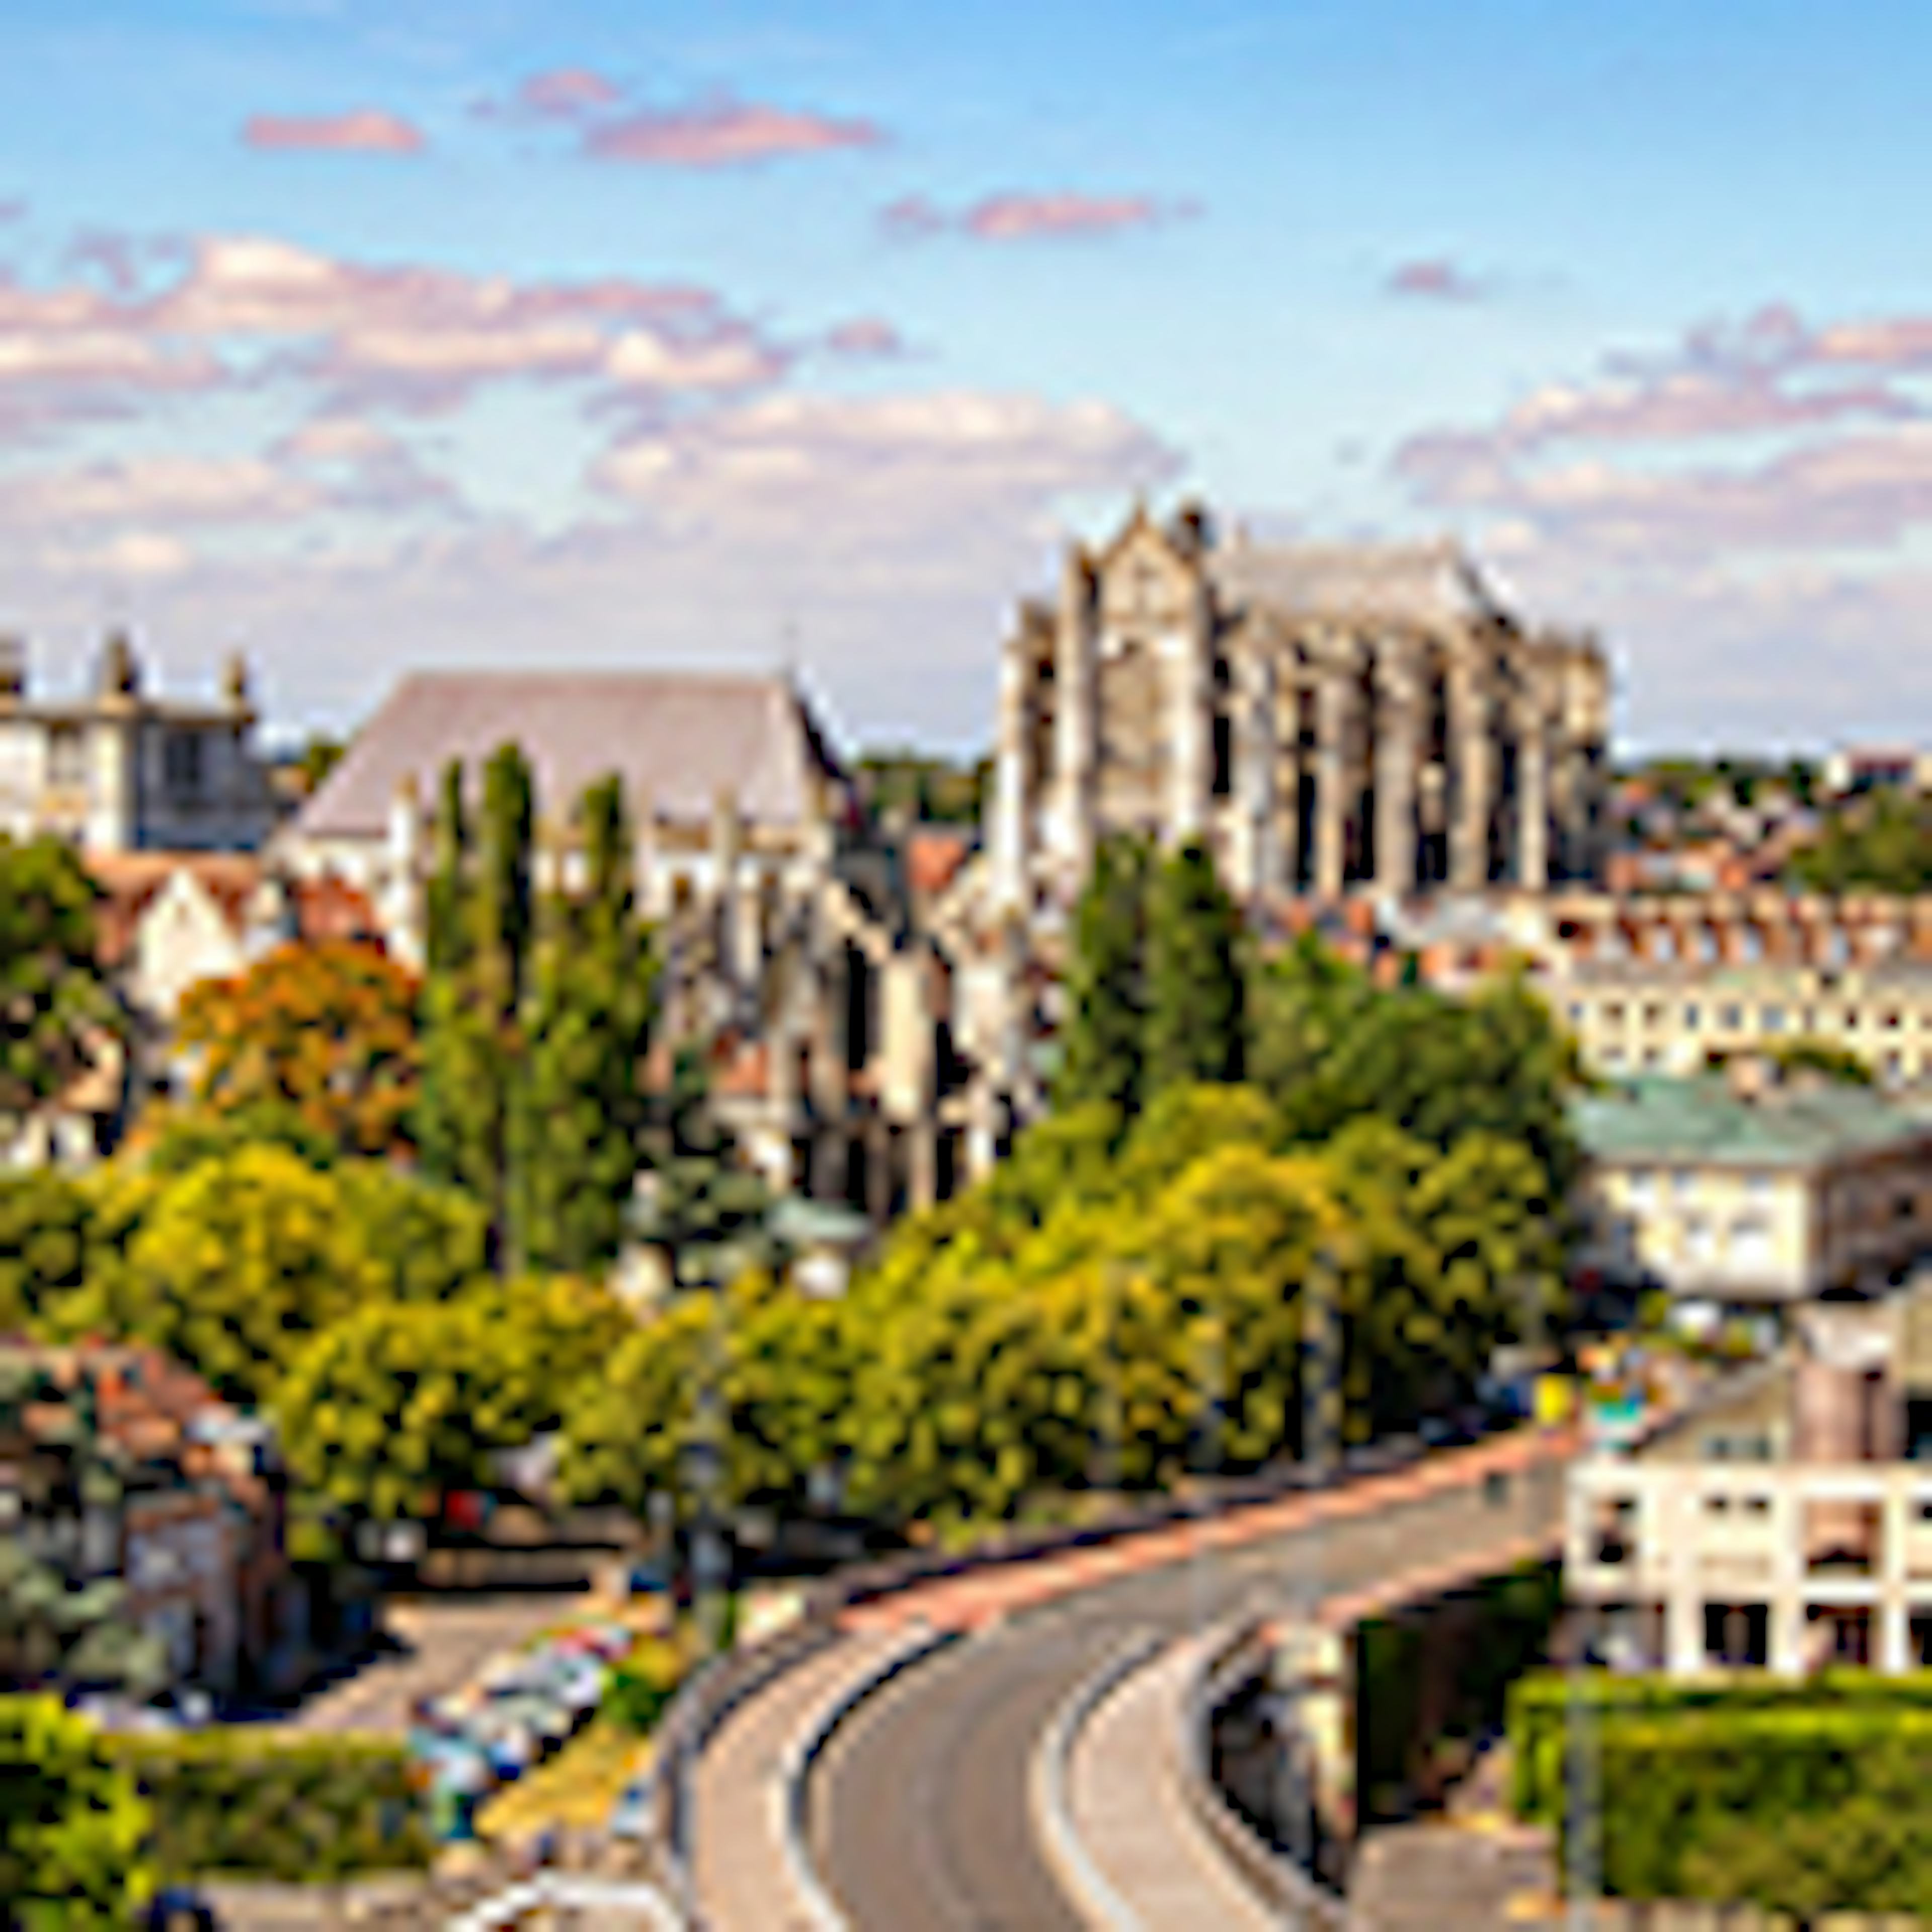
[[[1306,1598],[1354,1598],[1553,1528],[1548,1470],[1416,1493],[1350,1486],[1376,1507],[1209,1548],[1014,1609],[904,1673],[833,1733],[808,1787],[819,1872],[858,1932],[1080,1932],[1028,1818],[1034,1747],[1053,1712],[1132,1631],[1180,1634]],[[908,1600],[908,1613],[918,1613]]]

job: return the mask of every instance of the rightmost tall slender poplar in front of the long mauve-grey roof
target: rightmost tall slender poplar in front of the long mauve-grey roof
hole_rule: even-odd
[[[543,908],[524,1036],[518,1246],[541,1267],[614,1260],[641,1159],[651,970],[632,895],[622,781],[582,804],[585,893]]]

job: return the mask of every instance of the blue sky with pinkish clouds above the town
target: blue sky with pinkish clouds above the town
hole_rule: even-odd
[[[1451,531],[1625,744],[1926,736],[1922,8],[10,0],[0,622],[798,661],[972,748],[1136,491]]]

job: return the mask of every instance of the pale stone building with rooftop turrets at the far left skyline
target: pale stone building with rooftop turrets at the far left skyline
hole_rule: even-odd
[[[0,641],[0,833],[52,833],[91,852],[253,850],[269,837],[247,670],[180,703],[141,688],[126,638],[108,638],[87,697],[39,701],[19,643]]]

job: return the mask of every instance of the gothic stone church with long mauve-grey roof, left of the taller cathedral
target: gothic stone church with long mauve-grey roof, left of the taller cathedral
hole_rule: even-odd
[[[701,1043],[721,1119],[781,1194],[887,1221],[1007,1150],[1037,1099],[1016,939],[956,916],[962,842],[866,825],[788,680],[410,678],[278,837],[276,862],[298,887],[365,893],[388,951],[419,966],[437,775],[508,740],[537,775],[539,889],[582,883],[568,806],[609,771],[626,779],[659,960],[655,1076],[672,1045]]]

